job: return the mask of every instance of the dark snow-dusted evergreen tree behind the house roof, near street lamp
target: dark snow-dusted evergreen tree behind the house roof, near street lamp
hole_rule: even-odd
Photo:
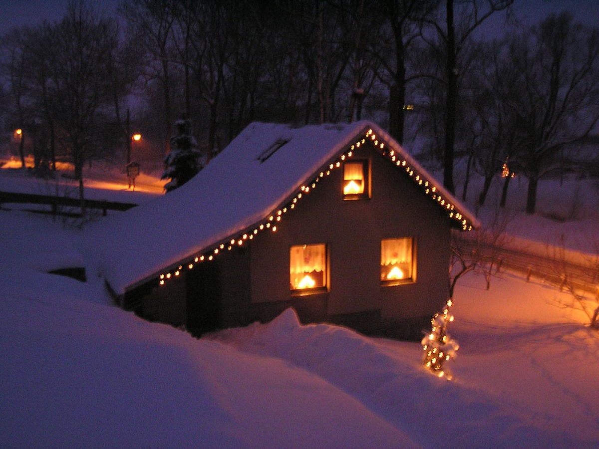
[[[167,192],[183,186],[202,169],[200,153],[191,135],[190,121],[185,117],[177,120],[177,135],[171,138],[171,151],[164,158],[165,170],[161,179],[170,179],[165,184]]]

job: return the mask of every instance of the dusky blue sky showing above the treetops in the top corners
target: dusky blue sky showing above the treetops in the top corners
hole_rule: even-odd
[[[68,0],[0,0],[0,35],[14,26],[36,25],[44,19],[59,20]],[[119,0],[95,0],[97,11],[107,14],[116,10]],[[551,12],[568,9],[574,16],[592,26],[599,26],[599,0],[515,0],[515,11],[525,23],[537,22]],[[503,14],[489,20],[489,28],[503,26]]]

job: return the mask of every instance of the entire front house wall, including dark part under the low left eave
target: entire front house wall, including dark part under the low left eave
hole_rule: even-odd
[[[335,169],[277,223],[277,232],[261,232],[243,247],[214,258],[218,325],[243,326],[268,321],[294,307],[304,323],[329,321],[362,332],[419,338],[447,299],[449,218],[412,180],[368,145],[353,159],[368,159],[371,198],[344,201],[343,171]],[[416,281],[397,286],[380,283],[380,242],[412,237],[416,242]],[[328,247],[329,289],[297,295],[289,288],[292,245]],[[186,308],[204,301],[198,278],[186,271],[143,299],[144,315],[171,324],[186,322]],[[195,287],[190,287],[195,283]],[[209,289],[209,291],[211,291]],[[188,317],[189,319],[189,317]],[[193,323],[187,323],[193,327]],[[388,333],[389,329],[404,332]],[[201,333],[201,332],[200,332]]]

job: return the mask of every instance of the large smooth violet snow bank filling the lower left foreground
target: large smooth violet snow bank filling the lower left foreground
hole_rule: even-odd
[[[0,285],[8,447],[415,446],[283,360],[92,304],[68,278],[19,281]]]

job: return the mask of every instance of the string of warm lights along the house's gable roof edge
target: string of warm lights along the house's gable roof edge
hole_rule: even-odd
[[[401,157],[401,154],[394,150],[387,150],[385,142],[383,142],[382,139],[377,138],[372,129],[368,129],[364,136],[350,145],[349,149],[341,154],[341,156],[338,157],[335,162],[331,162],[323,167],[316,175],[316,178],[314,178],[311,182],[303,184],[299,188],[299,191],[291,198],[291,201],[288,201],[288,203],[283,207],[272,211],[267,215],[267,218],[264,221],[257,223],[249,229],[244,229],[236,237],[230,236],[226,241],[219,242],[211,248],[206,248],[202,254],[193,256],[189,261],[182,263],[180,266],[176,266],[169,272],[159,275],[159,284],[164,285],[167,280],[170,280],[173,277],[179,277],[184,269],[193,269],[199,262],[213,260],[214,256],[217,256],[218,254],[231,251],[234,247],[242,246],[244,242],[252,240],[260,232],[265,232],[265,230],[277,232],[278,226],[280,226],[279,222],[282,222],[283,216],[289,213],[289,211],[295,209],[298,201],[315,189],[321,179],[331,175],[332,171],[342,168],[344,166],[343,162],[353,156],[353,151],[355,151],[356,148],[366,144],[367,141],[370,142],[370,144],[373,145],[380,154],[388,157],[391,162],[395,163],[395,165],[397,165],[399,168],[402,168],[406,172],[406,175],[412,178],[412,180],[422,188],[423,193],[437,201],[438,205],[448,212],[450,219],[456,220],[456,222],[458,222],[458,226],[460,226],[463,230],[472,229],[472,225],[468,223],[468,220],[465,219],[461,213],[455,210],[455,205],[452,204],[448,198],[445,198],[443,195],[438,193],[438,189],[433,185],[432,180],[425,179],[423,173],[420,173],[419,169],[415,168],[413,163],[411,163],[408,159]]]

